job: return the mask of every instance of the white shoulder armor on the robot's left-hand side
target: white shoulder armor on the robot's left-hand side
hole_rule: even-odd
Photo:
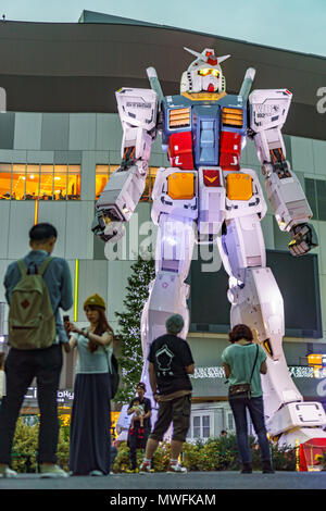
[[[142,127],[147,132],[156,125],[158,95],[152,89],[123,87],[115,92],[122,124]]]

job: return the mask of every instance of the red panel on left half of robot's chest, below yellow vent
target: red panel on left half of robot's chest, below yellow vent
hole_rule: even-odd
[[[168,139],[168,158],[172,166],[184,171],[193,169],[191,132],[174,133]]]

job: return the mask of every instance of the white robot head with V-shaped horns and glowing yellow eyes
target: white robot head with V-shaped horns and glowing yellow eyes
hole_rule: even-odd
[[[197,59],[183,73],[180,92],[223,92],[225,77],[222,74],[221,63],[230,55],[215,57],[214,50],[205,48],[201,53],[185,48]]]

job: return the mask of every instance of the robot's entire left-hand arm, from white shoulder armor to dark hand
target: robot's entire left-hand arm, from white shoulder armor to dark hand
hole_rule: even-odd
[[[156,136],[158,95],[151,89],[122,88],[116,94],[123,126],[122,163],[98,202],[92,232],[116,242],[143,192],[151,145]]]

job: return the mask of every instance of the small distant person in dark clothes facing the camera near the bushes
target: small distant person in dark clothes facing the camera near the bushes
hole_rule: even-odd
[[[137,449],[145,449],[148,436],[151,432],[151,410],[152,404],[150,399],[145,398],[143,395],[146,392],[146,385],[142,382],[136,387],[137,397],[130,401],[128,408],[128,415],[134,414],[136,411],[136,402],[137,406],[142,407],[143,415],[142,422],[143,426],[141,427],[140,419],[135,417],[131,422],[129,431],[128,431],[128,447],[130,449],[130,462],[131,462],[131,470],[128,472],[136,472],[137,471]]]

